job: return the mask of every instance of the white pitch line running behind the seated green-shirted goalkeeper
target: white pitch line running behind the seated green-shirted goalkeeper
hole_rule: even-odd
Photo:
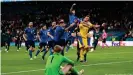
[[[95,65],[117,64],[117,63],[126,63],[126,62],[133,62],[133,60],[132,61],[122,61],[122,62],[97,63],[97,64],[89,64],[89,65],[81,65],[81,66],[95,66]],[[75,66],[75,67],[80,67],[80,66]],[[15,73],[26,73],[26,72],[41,71],[41,70],[45,70],[45,69],[9,72],[9,73],[2,73],[2,75],[15,74]]]

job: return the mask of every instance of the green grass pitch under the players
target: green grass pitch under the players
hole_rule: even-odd
[[[36,47],[37,48],[37,47]],[[2,75],[45,75],[44,69],[47,57],[43,61],[39,54],[36,59],[29,60],[25,47],[17,52],[16,47],[10,47],[9,52],[4,48],[1,52]],[[33,53],[35,55],[36,51]],[[133,47],[98,47],[88,53],[86,63],[76,62],[76,48],[70,49],[66,57],[75,61],[77,70],[84,69],[84,75],[133,75]]]

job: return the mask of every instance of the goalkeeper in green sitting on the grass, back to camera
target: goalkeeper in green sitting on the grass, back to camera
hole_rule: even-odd
[[[80,72],[74,68],[74,62],[60,54],[62,47],[56,45],[54,47],[54,54],[48,57],[46,63],[45,75],[82,75],[84,70]],[[61,67],[62,63],[67,63]]]

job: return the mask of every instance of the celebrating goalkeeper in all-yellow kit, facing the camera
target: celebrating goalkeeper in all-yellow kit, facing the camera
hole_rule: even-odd
[[[88,52],[88,42],[87,42],[87,34],[88,30],[93,27],[93,25],[89,21],[89,15],[85,16],[83,21],[79,24],[79,36],[82,38],[82,43],[79,44],[80,47],[80,62],[84,62],[84,55]]]

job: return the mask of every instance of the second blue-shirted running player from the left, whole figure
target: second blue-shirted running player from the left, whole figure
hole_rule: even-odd
[[[36,52],[36,55],[34,56],[34,58],[37,57],[37,55],[40,53],[40,52],[44,52],[44,55],[47,53],[47,39],[48,39],[48,36],[47,36],[47,28],[46,28],[46,25],[42,26],[42,29],[39,31],[38,33],[38,38],[39,38],[39,49],[40,50],[37,50]],[[44,56],[42,57],[44,58]]]

